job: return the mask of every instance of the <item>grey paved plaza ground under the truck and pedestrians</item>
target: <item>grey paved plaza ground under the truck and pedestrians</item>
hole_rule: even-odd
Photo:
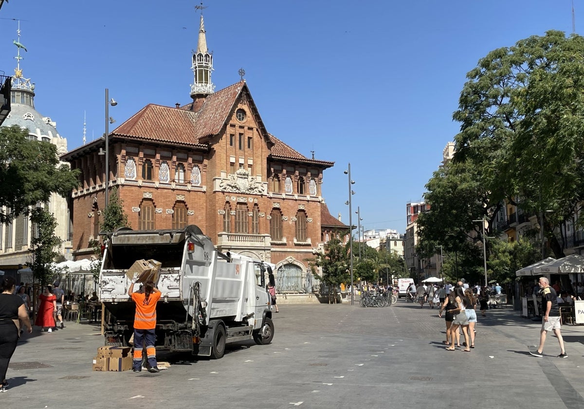
[[[568,359],[541,324],[518,311],[480,317],[476,348],[449,352],[436,309],[398,300],[280,306],[270,345],[232,345],[217,361],[180,361],[158,374],[92,372],[99,327],[24,335],[8,369],[2,409],[33,408],[584,408],[584,326],[565,325]],[[27,366],[43,368],[26,369]]]

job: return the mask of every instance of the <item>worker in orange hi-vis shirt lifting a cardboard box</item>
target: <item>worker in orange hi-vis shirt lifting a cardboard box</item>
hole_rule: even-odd
[[[142,287],[143,292],[134,292],[134,284],[138,277],[132,279],[128,296],[132,297],[136,303],[136,314],[134,316],[134,359],[132,369],[134,372],[142,370],[142,349],[146,345],[146,355],[148,358],[149,372],[160,372],[156,362],[156,349],[154,342],[154,328],[156,328],[156,304],[161,293],[155,288],[153,281],[147,281]]]

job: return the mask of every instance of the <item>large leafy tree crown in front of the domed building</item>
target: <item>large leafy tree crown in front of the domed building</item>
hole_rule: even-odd
[[[79,171],[59,165],[57,147],[29,140],[28,133],[16,125],[0,127],[0,223],[48,202],[51,193],[65,197],[79,185]]]

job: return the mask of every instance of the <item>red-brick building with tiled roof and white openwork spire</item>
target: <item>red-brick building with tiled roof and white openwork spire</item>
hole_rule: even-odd
[[[322,198],[333,162],[268,133],[243,79],[214,92],[203,16],[192,70],[192,101],[148,104],[109,134],[109,188],[117,187],[134,230],[196,224],[220,251],[276,264],[279,292],[313,292],[306,259],[326,234],[349,230]],[[77,259],[91,256],[102,221],[104,148],[96,140],[62,156],[82,171],[72,193]]]

